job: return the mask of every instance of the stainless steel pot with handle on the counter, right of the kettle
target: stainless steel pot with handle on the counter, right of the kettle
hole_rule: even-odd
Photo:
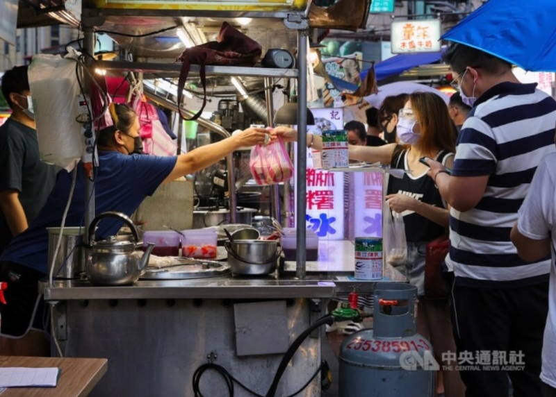
[[[228,264],[234,274],[269,274],[276,270],[281,249],[277,241],[240,240],[224,242]]]

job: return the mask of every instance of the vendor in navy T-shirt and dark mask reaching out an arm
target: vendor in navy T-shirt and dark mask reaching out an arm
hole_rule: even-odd
[[[263,128],[249,128],[215,144],[199,147],[183,155],[158,157],[131,154],[139,140],[139,121],[126,105],[111,105],[113,126],[99,131],[99,167],[95,170],[95,213],[123,212],[130,216],[147,196],[162,183],[204,169],[240,147],[265,141]],[[76,167],[74,196],[65,226],[82,226],[87,198],[85,173]],[[0,280],[8,282],[7,305],[0,305],[3,355],[49,355],[44,333],[44,303],[38,281],[47,274],[48,234],[46,228],[59,227],[70,196],[72,174],[60,171],[56,185],[38,217],[24,233],[15,237],[0,257]],[[107,219],[97,236],[115,235],[121,223]]]

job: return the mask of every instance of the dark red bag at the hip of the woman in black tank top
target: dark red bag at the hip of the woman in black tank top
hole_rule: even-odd
[[[425,298],[448,298],[448,290],[442,278],[442,262],[450,251],[450,238],[447,235],[438,237],[427,244],[425,253]]]

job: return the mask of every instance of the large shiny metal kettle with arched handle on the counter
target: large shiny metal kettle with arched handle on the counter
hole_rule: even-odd
[[[115,236],[95,242],[97,224],[106,218],[117,218],[129,226],[134,241],[117,239]],[[136,282],[147,269],[154,244],[149,244],[144,254],[135,251],[139,233],[133,221],[121,212],[103,212],[89,226],[89,245],[85,271],[93,285],[129,285]]]

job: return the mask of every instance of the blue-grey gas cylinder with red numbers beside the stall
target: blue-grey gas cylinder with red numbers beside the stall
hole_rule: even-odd
[[[439,365],[430,342],[416,332],[417,287],[379,282],[373,299],[374,329],[341,345],[339,396],[434,396]]]

